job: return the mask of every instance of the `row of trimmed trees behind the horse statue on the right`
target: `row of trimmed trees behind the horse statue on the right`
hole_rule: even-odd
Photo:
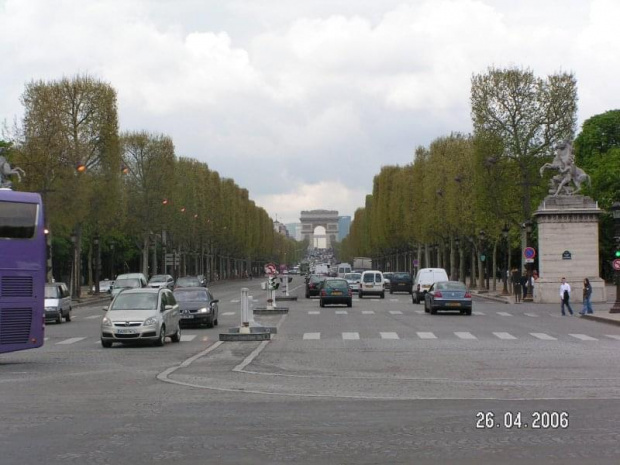
[[[496,288],[497,271],[518,266],[521,250],[536,246],[528,221],[555,174],[538,170],[557,142],[574,138],[576,80],[490,68],[472,77],[471,108],[473,134],[439,137],[418,147],[411,164],[375,176],[342,243],[344,260],[370,256],[381,269],[407,271],[417,260],[453,279],[468,276],[471,287]],[[612,113],[588,120],[575,141],[577,163],[592,176],[584,193],[602,208],[620,200],[620,119]],[[602,234],[602,257],[610,244]]]

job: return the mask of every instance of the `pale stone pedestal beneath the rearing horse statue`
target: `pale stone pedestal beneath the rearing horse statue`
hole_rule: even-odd
[[[584,278],[592,285],[592,302],[606,302],[605,282],[599,276],[601,213],[596,202],[583,195],[550,195],[538,207],[534,216],[540,278],[534,284],[535,302],[559,305],[562,277],[571,286],[571,302],[583,302]]]

